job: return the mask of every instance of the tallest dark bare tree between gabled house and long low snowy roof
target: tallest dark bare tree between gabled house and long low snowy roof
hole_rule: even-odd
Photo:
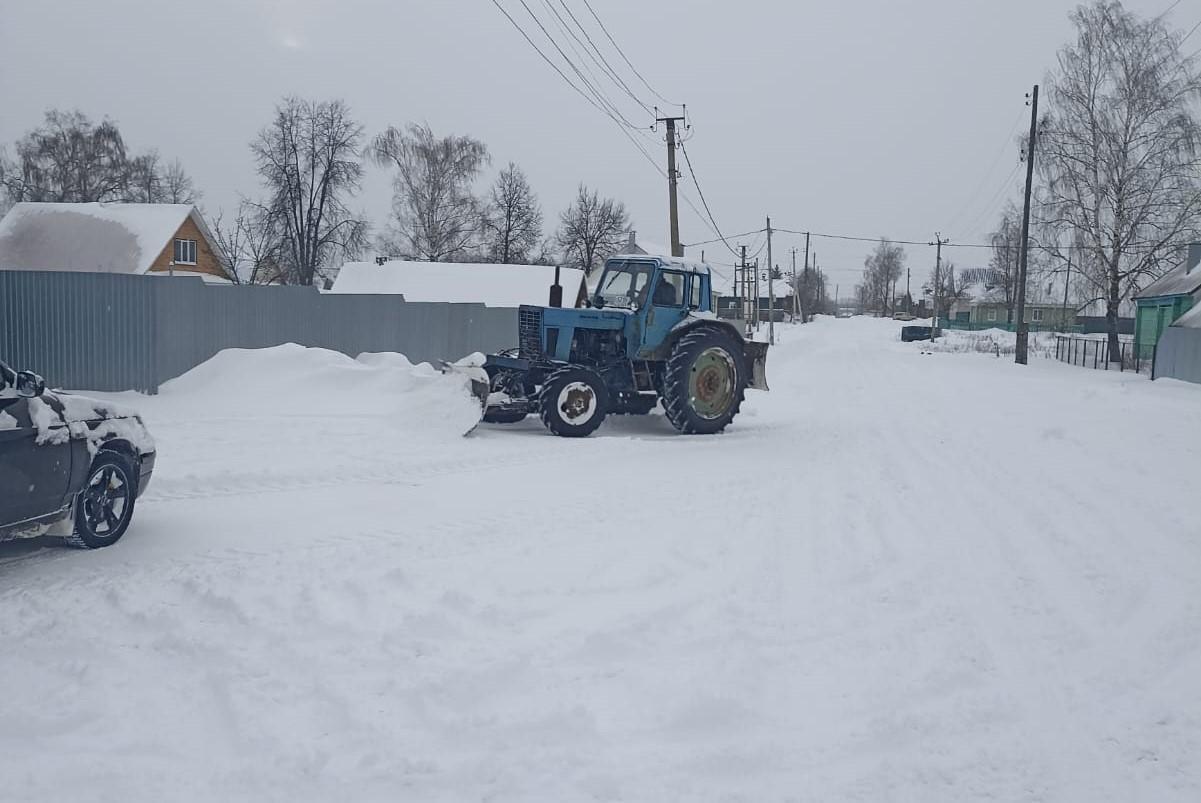
[[[287,283],[328,278],[335,260],[366,241],[366,222],[348,206],[363,179],[362,138],[342,101],[287,97],[251,143],[269,194],[259,209],[279,223]]]

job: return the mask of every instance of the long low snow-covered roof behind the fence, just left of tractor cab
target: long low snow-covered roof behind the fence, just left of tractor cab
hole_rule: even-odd
[[[545,306],[555,283],[554,265],[500,265],[492,263],[348,262],[334,280],[331,293],[404,295],[406,301],[448,301],[516,307]],[[584,271],[560,268],[563,304],[574,306]]]

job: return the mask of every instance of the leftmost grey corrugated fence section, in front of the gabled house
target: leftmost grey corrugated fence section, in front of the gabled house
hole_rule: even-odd
[[[0,270],[0,356],[58,388],[154,391],[153,281]]]

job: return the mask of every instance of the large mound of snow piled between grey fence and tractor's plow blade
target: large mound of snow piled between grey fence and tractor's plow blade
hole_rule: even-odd
[[[470,383],[395,353],[352,359],[295,343],[227,349],[172,379],[160,397],[205,417],[380,417],[424,439],[458,437],[479,421]]]

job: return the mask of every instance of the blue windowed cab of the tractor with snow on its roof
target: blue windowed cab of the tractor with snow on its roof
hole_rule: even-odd
[[[593,307],[623,310],[627,355],[651,359],[689,316],[712,314],[709,268],[670,257],[620,256],[605,262]]]

